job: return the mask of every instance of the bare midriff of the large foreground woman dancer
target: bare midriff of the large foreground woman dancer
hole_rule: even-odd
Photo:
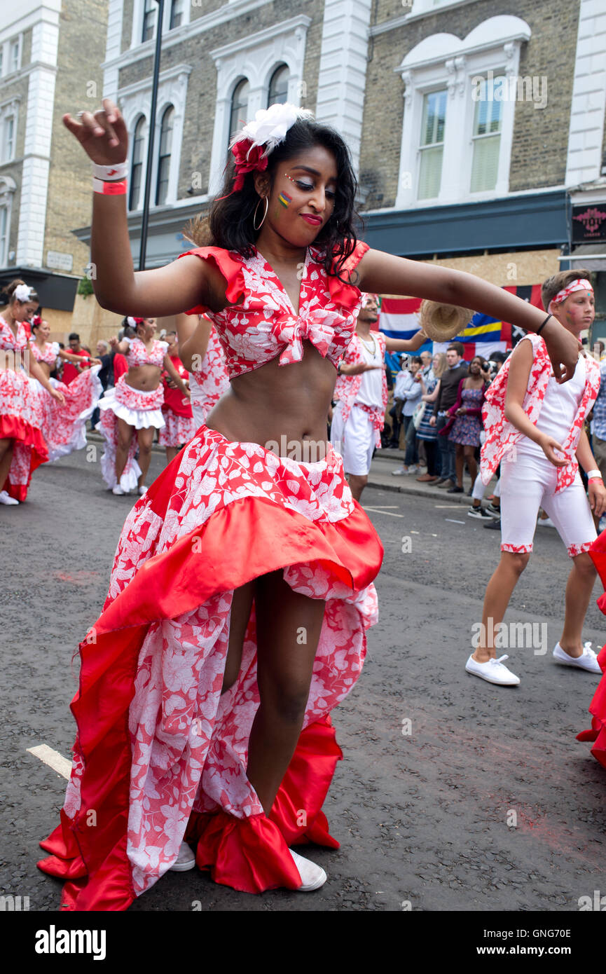
[[[208,413],[208,429],[281,457],[322,460],[336,375],[332,362],[304,341],[300,362],[279,365],[277,356],[232,379],[229,392]]]

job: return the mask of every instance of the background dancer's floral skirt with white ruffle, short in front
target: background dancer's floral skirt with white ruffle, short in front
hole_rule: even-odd
[[[162,412],[164,386],[162,383],[149,393],[133,389],[121,375],[113,389],[105,390],[98,407],[100,419],[96,429],[105,440],[105,450],[101,457],[101,476],[111,490],[116,486],[116,447],[118,445],[118,419],[122,419],[135,430],[148,430],[155,427],[162,430],[165,425]],[[141,468],[135,460],[138,449],[136,435],[133,435],[126,467],[120,477],[120,486],[125,491],[136,488]]]

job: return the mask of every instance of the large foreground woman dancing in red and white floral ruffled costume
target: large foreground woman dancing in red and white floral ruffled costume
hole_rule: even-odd
[[[105,178],[128,158],[109,99],[64,123]],[[213,245],[157,270],[133,272],[126,183],[95,183],[98,300],[141,316],[206,312],[231,386],[130,512],[104,612],[80,646],[72,776],[41,864],[69,880],[66,909],[126,909],[185,836],[215,881],[322,884],[289,845],[338,844],[321,811],[342,757],[329,711],[360,674],[383,554],[325,440],[360,287],[530,329],[544,318],[472,275],[358,243],[347,146],[310,112],[259,111],[232,153]],[[543,333],[565,379],[576,342],[550,319]],[[296,459],[310,447],[321,459]]]

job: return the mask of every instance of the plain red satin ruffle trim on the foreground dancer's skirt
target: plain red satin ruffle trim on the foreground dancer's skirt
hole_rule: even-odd
[[[169,504],[178,462],[177,457],[148,491],[160,516]],[[382,544],[359,505],[343,520],[323,523],[264,498],[246,497],[215,511],[205,525],[141,565],[107,604],[89,641],[80,644],[80,686],[71,710],[85,761],[81,805],[73,819],[61,812],[60,826],[40,843],[52,855],[38,863],[43,872],[69,880],[62,909],[126,910],[135,898],[127,856],[132,761],[128,721],[149,625],[181,616],[217,592],[289,565],[320,562],[335,579],[360,591],[378,574],[382,557]],[[249,892],[297,888],[300,878],[287,845],[311,841],[338,846],[328,834],[321,806],[341,757],[329,720],[317,722],[301,733],[270,818],[193,813],[190,827],[199,835],[199,865],[210,868],[217,882]],[[87,821],[90,809],[95,809],[94,827]],[[300,810],[306,812],[305,820]]]

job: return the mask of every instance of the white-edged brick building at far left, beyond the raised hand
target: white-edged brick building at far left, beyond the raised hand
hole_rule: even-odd
[[[89,248],[72,231],[90,222],[92,195],[90,166],[61,118],[96,106],[106,29],[107,0],[0,9],[0,285],[35,287],[57,338],[74,323]]]

